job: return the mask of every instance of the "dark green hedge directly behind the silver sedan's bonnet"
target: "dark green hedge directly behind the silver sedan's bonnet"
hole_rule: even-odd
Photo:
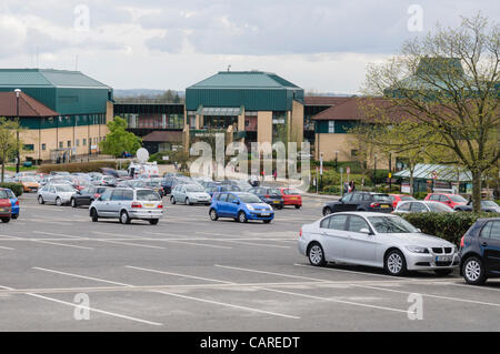
[[[497,214],[498,215],[498,214]],[[460,239],[481,218],[492,218],[491,213],[408,213],[400,214],[413,226],[420,229],[423,233],[444,239],[457,246],[460,245]]]

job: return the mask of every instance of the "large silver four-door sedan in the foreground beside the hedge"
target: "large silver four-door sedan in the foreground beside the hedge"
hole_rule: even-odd
[[[426,235],[398,215],[343,212],[303,225],[299,252],[316,266],[341,262],[384,269],[401,276],[407,271],[448,275],[459,265],[457,247]]]

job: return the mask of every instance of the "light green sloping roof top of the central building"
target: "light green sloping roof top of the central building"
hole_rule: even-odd
[[[300,89],[283,78],[263,71],[220,71],[188,89]]]

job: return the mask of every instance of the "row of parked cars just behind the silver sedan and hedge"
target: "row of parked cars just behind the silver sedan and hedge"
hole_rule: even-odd
[[[493,201],[481,201],[483,212],[500,213],[500,206]],[[423,201],[404,194],[384,194],[373,192],[352,192],[336,202],[323,206],[323,215],[346,211],[369,211],[381,213],[452,213],[472,211],[472,202],[458,194],[429,193]]]

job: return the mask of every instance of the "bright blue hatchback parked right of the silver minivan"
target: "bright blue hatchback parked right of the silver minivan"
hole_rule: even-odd
[[[274,219],[274,211],[257,195],[244,192],[216,193],[209,211],[212,221],[231,218],[241,223],[249,220],[262,220],[269,224]]]

